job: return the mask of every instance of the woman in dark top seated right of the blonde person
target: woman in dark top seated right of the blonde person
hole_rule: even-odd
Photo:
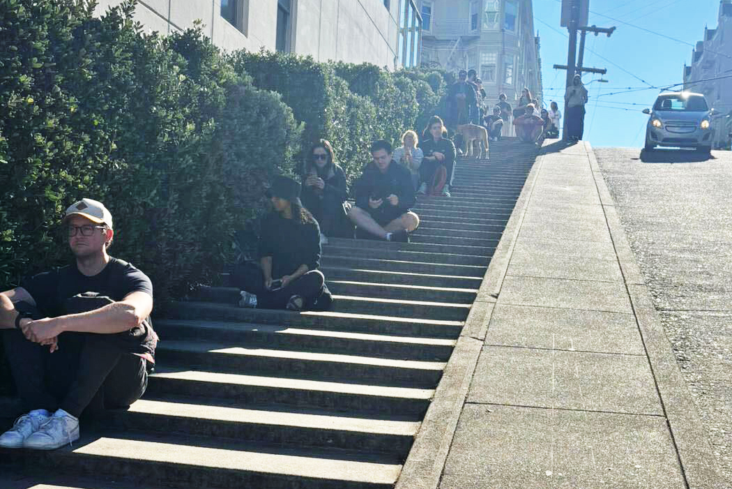
[[[435,174],[442,165],[445,167],[445,184],[442,188],[442,195],[450,196],[452,175],[455,172],[455,144],[447,138],[445,124],[438,116],[432,116],[422,134],[422,141],[419,143],[425,157],[422,159],[422,166],[419,168],[419,179],[422,184],[419,192],[426,194],[428,188],[433,184]]]

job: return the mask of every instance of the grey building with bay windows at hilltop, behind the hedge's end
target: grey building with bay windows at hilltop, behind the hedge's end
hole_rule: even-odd
[[[489,101],[505,93],[513,105],[524,86],[542,100],[531,0],[420,0],[419,8],[422,66],[477,70]]]

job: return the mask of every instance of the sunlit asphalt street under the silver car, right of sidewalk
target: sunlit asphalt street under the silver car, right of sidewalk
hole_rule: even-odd
[[[666,335],[732,484],[732,153],[595,150]]]

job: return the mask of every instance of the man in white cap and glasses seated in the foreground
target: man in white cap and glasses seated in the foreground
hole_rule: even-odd
[[[86,410],[125,408],[147,387],[157,335],[152,283],[107,254],[112,216],[84,198],[64,217],[74,263],[0,294],[0,333],[26,414],[0,447],[56,449],[79,438]]]

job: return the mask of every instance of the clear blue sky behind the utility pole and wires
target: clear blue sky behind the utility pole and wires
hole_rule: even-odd
[[[561,3],[557,0],[534,0],[533,3],[534,29],[539,31],[542,43],[540,54],[544,100],[547,104],[550,100],[561,102],[564,100],[566,72],[552,67],[554,64],[567,64],[567,29],[559,26]],[[641,111],[652,105],[659,90],[616,95],[610,93],[622,92],[628,87],[646,87],[648,84],[659,86],[679,83],[684,62],[691,63],[691,45],[702,39],[705,25],[709,29],[717,27],[719,4],[719,0],[590,0],[589,25],[617,27],[609,39],[605,34],[598,37],[589,34],[586,41],[586,48],[597,54],[586,49],[584,65],[608,69],[608,74],[604,76],[608,83],[591,83],[587,86],[590,100],[586,105],[585,139],[592,146],[643,145],[648,116]],[[650,34],[597,14],[608,15],[688,44]],[[586,74],[583,75],[583,81],[588,83],[599,77]],[[640,105],[631,105],[633,103]]]

